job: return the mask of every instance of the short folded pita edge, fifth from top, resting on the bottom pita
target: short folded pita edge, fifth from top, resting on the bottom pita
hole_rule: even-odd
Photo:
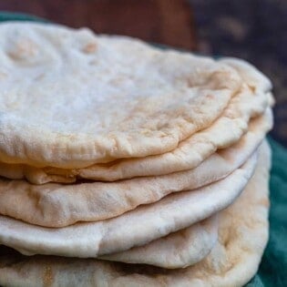
[[[144,246],[101,256],[100,259],[155,265],[168,269],[184,268],[205,258],[218,239],[217,214],[170,233]]]

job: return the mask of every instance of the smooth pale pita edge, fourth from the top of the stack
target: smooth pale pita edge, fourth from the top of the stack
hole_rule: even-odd
[[[145,245],[226,208],[241,194],[255,164],[256,154],[225,179],[169,195],[111,220],[52,229],[0,216],[0,244],[23,254],[86,258]]]

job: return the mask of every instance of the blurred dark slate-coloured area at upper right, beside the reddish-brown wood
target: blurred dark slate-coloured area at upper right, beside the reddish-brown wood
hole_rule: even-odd
[[[189,1],[201,52],[241,57],[271,78],[276,98],[271,134],[287,148],[287,1]]]

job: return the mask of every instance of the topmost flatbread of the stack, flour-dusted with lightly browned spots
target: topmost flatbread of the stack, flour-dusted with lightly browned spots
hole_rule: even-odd
[[[54,24],[0,25],[0,157],[83,168],[175,149],[241,88],[232,67]]]

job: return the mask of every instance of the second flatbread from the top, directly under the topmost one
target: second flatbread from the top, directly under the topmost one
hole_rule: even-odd
[[[210,127],[181,141],[176,149],[145,158],[94,164],[84,169],[36,168],[0,162],[0,175],[43,184],[50,181],[74,182],[77,178],[114,181],[194,169],[217,149],[238,141],[247,131],[250,118],[261,115],[268,105],[272,105],[272,95],[266,93],[269,81],[255,67],[238,59],[223,58],[220,62],[226,62],[239,72],[243,81],[240,92],[231,98],[220,118]]]

